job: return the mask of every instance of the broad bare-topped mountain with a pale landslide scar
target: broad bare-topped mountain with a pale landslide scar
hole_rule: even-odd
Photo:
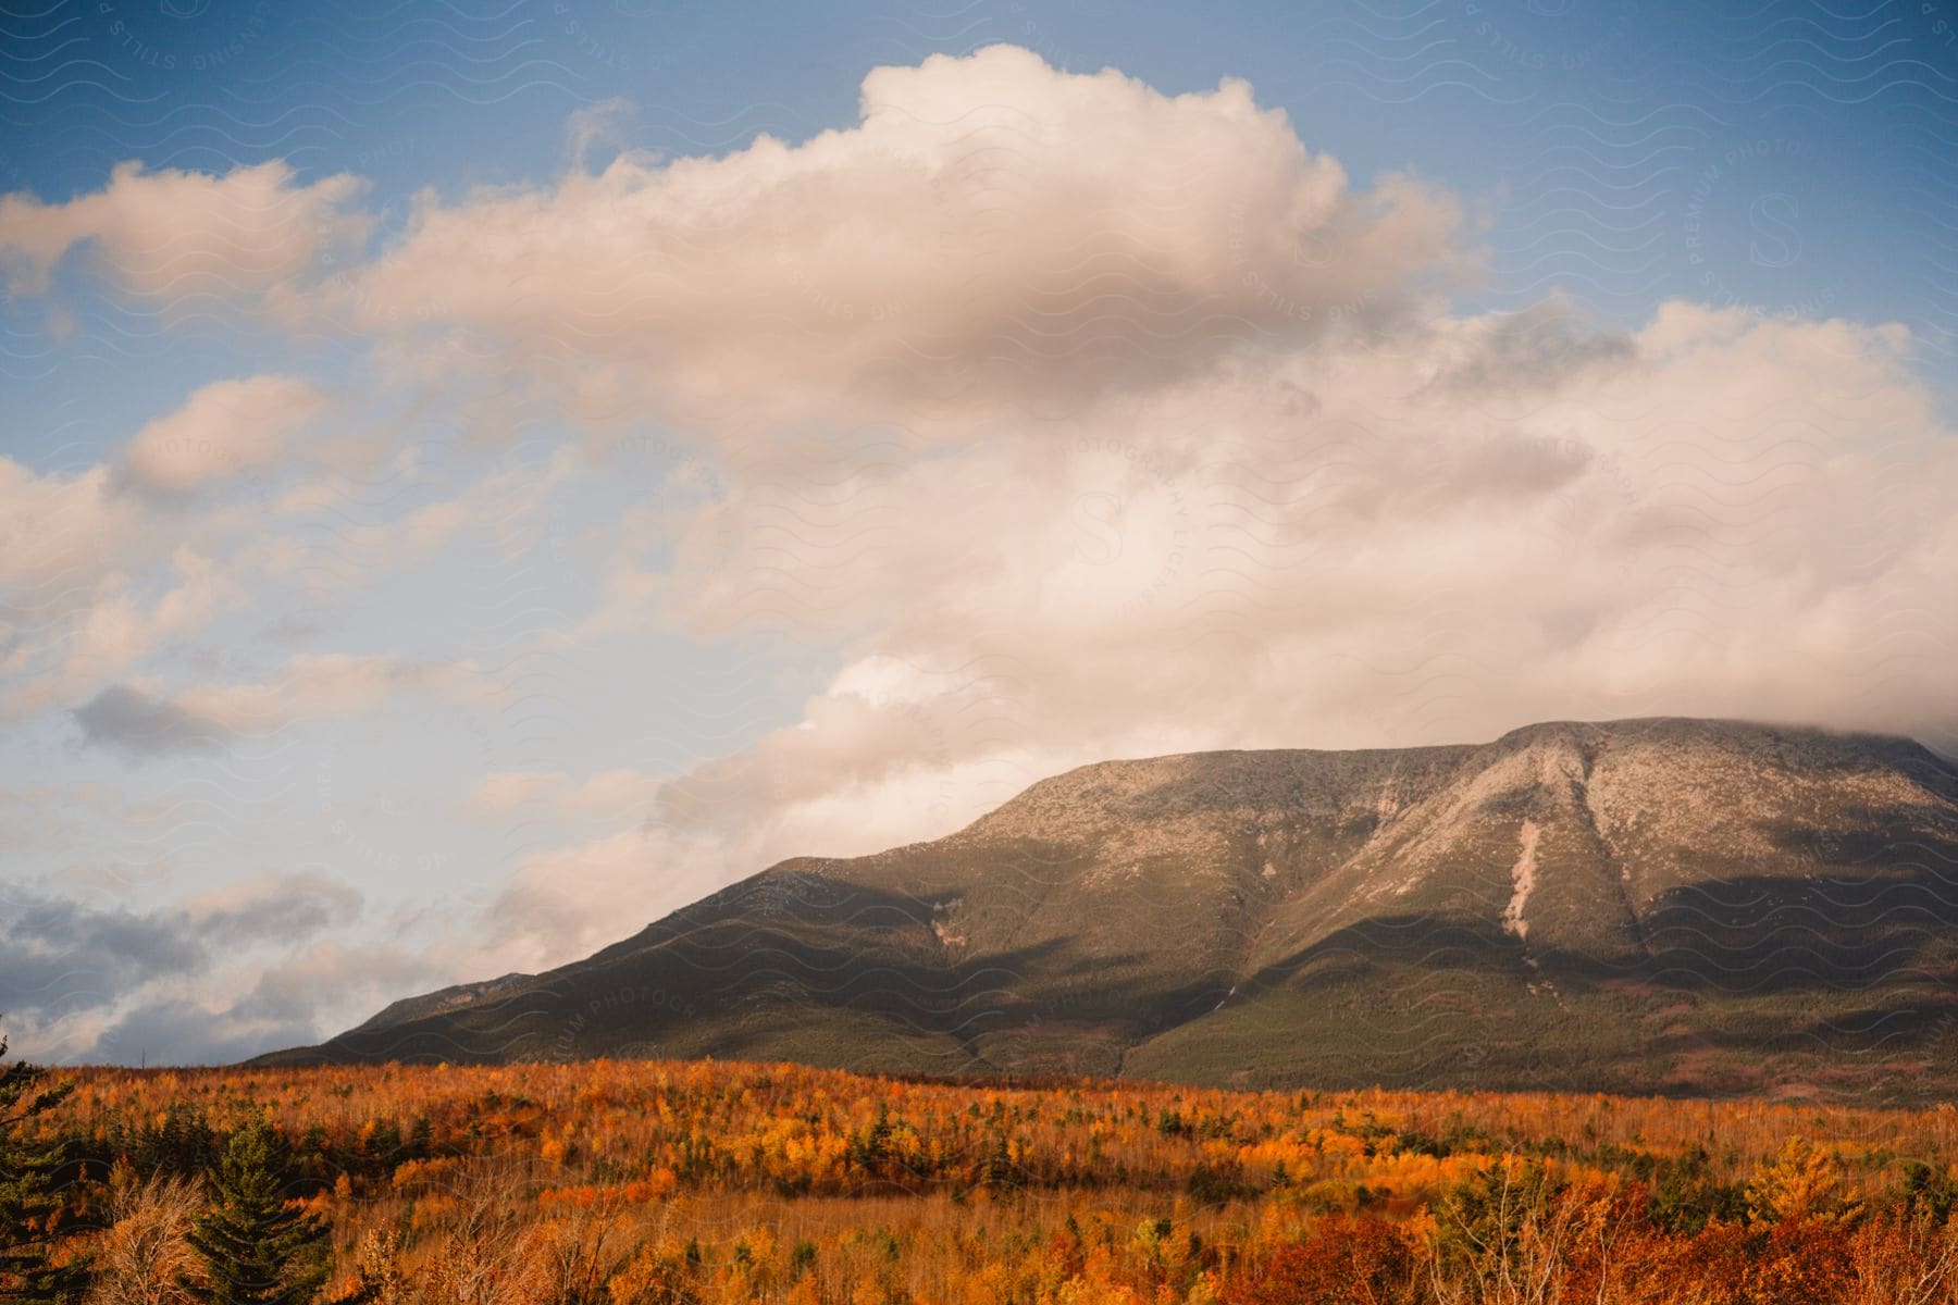
[[[1901,1100],[1958,1086],[1954,978],[1958,769],[1925,747],[1539,724],[1081,767],[266,1060]]]

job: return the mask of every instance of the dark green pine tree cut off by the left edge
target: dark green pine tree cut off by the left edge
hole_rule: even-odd
[[[0,1058],[6,1058],[4,1033]],[[41,1074],[25,1060],[0,1070],[0,1301],[70,1301],[86,1285],[82,1262],[51,1258],[61,1215],[53,1178],[63,1147],[20,1139],[22,1123],[53,1109],[74,1088],[43,1088]]]

